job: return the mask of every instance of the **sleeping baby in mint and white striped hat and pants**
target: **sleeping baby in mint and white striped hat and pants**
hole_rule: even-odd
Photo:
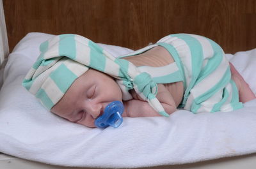
[[[52,113],[90,128],[112,101],[123,117],[168,117],[243,107],[255,94],[214,41],[171,34],[131,54],[113,57],[93,41],[62,34],[40,45],[22,85]]]

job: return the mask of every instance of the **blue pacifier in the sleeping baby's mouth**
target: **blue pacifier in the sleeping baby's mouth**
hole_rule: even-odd
[[[94,124],[97,128],[106,128],[112,126],[118,128],[122,122],[122,114],[124,112],[124,105],[121,101],[113,101],[104,109],[104,114],[98,117]]]

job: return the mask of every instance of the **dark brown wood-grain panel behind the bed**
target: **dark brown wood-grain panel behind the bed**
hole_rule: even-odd
[[[3,0],[10,51],[29,32],[75,33],[138,49],[173,33],[207,36],[226,53],[256,48],[255,0]]]

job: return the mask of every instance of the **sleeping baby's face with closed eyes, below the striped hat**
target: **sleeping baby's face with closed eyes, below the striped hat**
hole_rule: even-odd
[[[122,101],[122,91],[108,75],[89,69],[77,78],[51,112],[71,122],[94,128],[94,121],[112,101]]]

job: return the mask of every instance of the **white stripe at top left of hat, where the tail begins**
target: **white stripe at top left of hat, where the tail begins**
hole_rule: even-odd
[[[59,41],[60,41],[60,36],[54,36],[54,38],[51,38],[48,40],[48,47],[51,49],[47,49],[47,51],[44,54],[44,59],[50,59],[54,56],[59,55]]]

